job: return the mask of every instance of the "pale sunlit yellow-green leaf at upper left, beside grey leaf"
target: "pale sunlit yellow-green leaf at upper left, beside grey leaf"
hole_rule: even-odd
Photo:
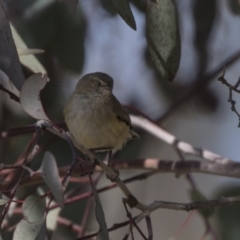
[[[14,42],[17,47],[17,52],[20,55],[20,62],[29,68],[32,72],[34,73],[46,73],[46,69],[43,67],[43,65],[38,61],[38,59],[35,56],[32,55],[26,55],[28,54],[36,54],[36,53],[42,53],[44,50],[41,49],[28,49],[26,43],[23,41],[23,39],[20,37],[16,29],[10,25],[11,30],[12,30],[12,35]],[[23,55],[24,53],[24,55]]]

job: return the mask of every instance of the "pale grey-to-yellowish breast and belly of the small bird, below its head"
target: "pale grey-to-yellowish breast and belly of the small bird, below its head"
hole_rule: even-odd
[[[96,101],[85,97],[74,99],[66,109],[68,107],[76,109],[65,113],[68,128],[74,138],[88,149],[119,149],[131,138],[129,126],[116,117],[107,103],[96,104]]]

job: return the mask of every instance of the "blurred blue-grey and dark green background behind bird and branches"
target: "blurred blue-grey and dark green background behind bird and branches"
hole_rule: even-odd
[[[86,73],[102,71],[111,75],[115,82],[114,94],[122,104],[132,105],[155,120],[168,111],[177,99],[192,86],[199,84],[208,73],[223,67],[224,62],[240,50],[240,4],[237,0],[181,0],[175,1],[179,14],[182,55],[180,67],[173,83],[164,81],[155,70],[147,51],[145,39],[144,0],[132,0],[131,8],[137,31],[132,30],[117,14],[110,0],[81,0],[76,13],[65,4],[55,0],[6,0],[9,20],[29,48],[44,49],[37,55],[45,67],[50,82],[41,92],[44,109],[54,122],[63,121],[63,106],[77,81]],[[234,84],[240,75],[240,58],[227,66],[226,79]],[[26,77],[32,73],[24,67]],[[227,102],[228,89],[217,81],[221,71],[209,81],[204,90],[172,111],[160,124],[177,138],[193,146],[208,149],[222,156],[239,161],[240,130],[238,117],[231,112]],[[5,83],[7,84],[7,83]],[[6,85],[6,87],[9,87]],[[34,120],[1,92],[0,130],[23,127]],[[234,95],[237,108],[240,98]],[[138,129],[136,129],[138,131]],[[178,160],[171,147],[155,137],[138,131],[141,140],[130,142],[116,158],[134,159],[155,157]],[[12,163],[21,154],[30,135],[1,139],[0,157],[4,163]],[[52,135],[45,133],[42,143]],[[48,146],[58,165],[68,165],[71,152],[63,140],[56,139]],[[42,154],[34,161],[37,169]],[[190,158],[193,159],[193,158]],[[121,171],[121,177],[133,176],[140,171]],[[240,182],[219,176],[193,174],[200,191],[209,199],[240,194]],[[109,184],[102,177],[98,187]],[[83,187],[84,191],[87,187]],[[154,200],[190,202],[190,185],[185,176],[158,174],[145,181],[129,184],[135,196],[146,204]],[[127,219],[119,189],[100,195],[107,225]],[[86,201],[68,206],[61,215],[80,223]],[[77,209],[77,211],[76,211]],[[133,215],[138,211],[133,210]],[[198,213],[178,238],[171,238],[181,228],[189,213],[173,210],[157,210],[152,213],[154,239],[193,240],[203,239],[204,222]],[[215,210],[211,224],[218,238],[237,240],[240,207],[221,207]],[[145,222],[140,224],[146,232]],[[96,231],[98,225],[91,213],[88,231]],[[111,239],[122,239],[127,228],[110,234]],[[136,239],[141,239],[135,232]],[[74,239],[76,237],[63,227],[52,234],[52,239]],[[10,234],[9,234],[9,239]],[[204,239],[214,239],[208,236]]]

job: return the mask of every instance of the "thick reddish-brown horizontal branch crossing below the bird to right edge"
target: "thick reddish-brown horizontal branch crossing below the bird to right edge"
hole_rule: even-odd
[[[14,165],[13,165],[14,166]],[[86,169],[85,169],[86,167]],[[113,160],[112,167],[116,170],[126,169],[141,169],[141,170],[152,170],[151,172],[142,173],[137,176],[129,178],[131,181],[143,180],[152,175],[158,173],[175,173],[176,176],[180,176],[186,173],[205,173],[210,175],[218,175],[225,177],[240,178],[240,163],[239,162],[229,162],[227,164],[219,164],[215,162],[203,162],[198,160],[188,160],[185,162],[163,160],[157,158],[146,158],[146,159],[131,159],[131,160]],[[18,168],[18,166],[16,166]],[[87,168],[91,166],[83,165],[82,168],[77,166],[73,172],[73,177],[70,182],[88,182],[88,179],[79,178],[79,174],[87,171]],[[60,167],[59,175],[63,177],[69,166]],[[4,170],[3,170],[4,171]],[[95,171],[102,171],[101,168],[96,167]],[[74,177],[76,176],[76,177]],[[124,183],[130,182],[130,180],[123,180]],[[34,175],[33,178],[26,176],[21,180],[19,186],[30,186],[43,182],[40,175]],[[7,183],[0,184],[0,190],[6,187]],[[113,184],[116,187],[115,184]]]

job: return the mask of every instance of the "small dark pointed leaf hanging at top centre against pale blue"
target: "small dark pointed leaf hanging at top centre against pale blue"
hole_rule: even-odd
[[[136,22],[128,0],[111,0],[119,15],[129,27],[136,30]]]

